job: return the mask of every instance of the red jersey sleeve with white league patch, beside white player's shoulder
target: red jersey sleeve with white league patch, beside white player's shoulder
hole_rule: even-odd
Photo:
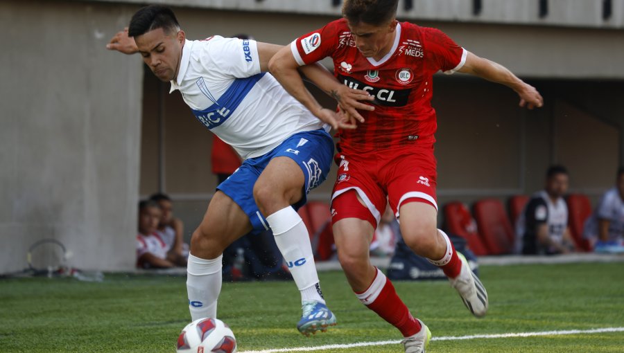
[[[291,43],[291,52],[300,66],[312,64],[331,56],[336,49],[338,37],[339,33],[336,33],[336,26],[334,22],[331,22],[323,28],[295,39]]]

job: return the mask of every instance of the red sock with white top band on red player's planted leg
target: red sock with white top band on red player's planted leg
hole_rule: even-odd
[[[417,334],[422,327],[420,322],[410,314],[403,300],[397,296],[392,282],[379,269],[376,270],[377,274],[370,287],[364,293],[356,293],[356,296],[368,309],[397,327],[404,337]]]

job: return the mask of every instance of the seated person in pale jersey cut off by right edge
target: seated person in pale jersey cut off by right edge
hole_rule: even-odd
[[[596,252],[624,252],[624,168],[587,219],[584,237]]]

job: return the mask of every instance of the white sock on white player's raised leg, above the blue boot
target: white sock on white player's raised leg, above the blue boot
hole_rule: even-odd
[[[277,248],[284,256],[301,300],[325,300],[320,290],[308,229],[294,208],[288,206],[266,217],[275,236]]]

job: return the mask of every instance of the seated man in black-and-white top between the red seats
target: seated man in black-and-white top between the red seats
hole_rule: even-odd
[[[568,171],[553,165],[546,172],[546,188],[532,195],[517,223],[516,250],[524,255],[570,253],[574,242],[568,228]]]

